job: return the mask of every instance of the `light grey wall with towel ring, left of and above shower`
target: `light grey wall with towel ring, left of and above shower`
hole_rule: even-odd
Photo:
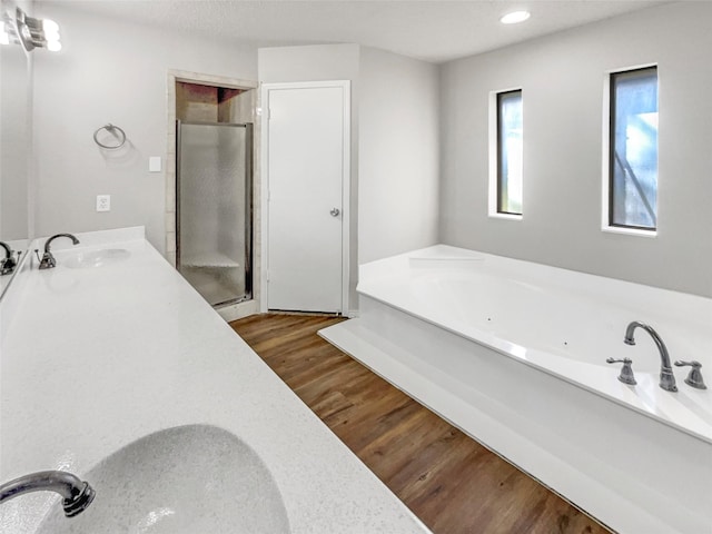
[[[33,52],[36,234],[145,225],[162,253],[165,178],[148,172],[148,157],[161,156],[166,168],[167,71],[255,80],[256,49],[47,2],[38,16],[60,24],[63,49]],[[121,127],[131,146],[118,158],[105,158],[93,142],[107,122]],[[111,195],[110,212],[96,212],[98,194]]]

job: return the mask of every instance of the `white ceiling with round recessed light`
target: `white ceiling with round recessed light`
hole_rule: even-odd
[[[647,0],[36,0],[257,47],[353,42],[444,62],[630,11]],[[527,9],[522,24],[502,14]],[[61,21],[60,21],[61,22]]]

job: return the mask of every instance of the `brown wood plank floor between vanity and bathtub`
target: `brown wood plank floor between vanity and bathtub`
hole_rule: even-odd
[[[316,335],[339,320],[230,325],[433,532],[610,532]]]

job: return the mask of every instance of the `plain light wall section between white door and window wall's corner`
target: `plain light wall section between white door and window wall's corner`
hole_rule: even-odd
[[[358,261],[437,243],[439,70],[362,47]]]

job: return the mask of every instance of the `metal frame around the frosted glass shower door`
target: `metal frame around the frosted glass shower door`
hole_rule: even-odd
[[[254,298],[253,291],[253,146],[254,125],[251,122],[205,122],[197,120],[176,119],[176,270],[180,273],[180,126],[225,126],[231,128],[245,128],[245,297],[226,300],[215,306],[227,306]]]

